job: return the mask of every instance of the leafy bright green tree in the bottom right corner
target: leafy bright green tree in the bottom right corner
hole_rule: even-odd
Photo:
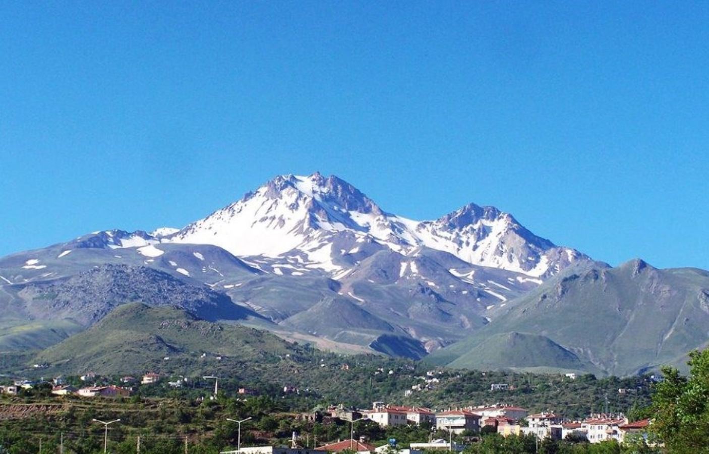
[[[689,377],[662,367],[649,426],[671,453],[709,453],[709,348],[689,354]]]

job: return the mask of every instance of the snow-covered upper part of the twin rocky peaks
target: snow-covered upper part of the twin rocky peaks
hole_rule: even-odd
[[[549,277],[589,260],[535,236],[512,215],[469,204],[435,221],[413,221],[383,211],[342,179],[283,175],[165,240],[218,245],[238,256],[296,259],[333,273],[362,247],[408,255],[425,247],[471,265]]]

